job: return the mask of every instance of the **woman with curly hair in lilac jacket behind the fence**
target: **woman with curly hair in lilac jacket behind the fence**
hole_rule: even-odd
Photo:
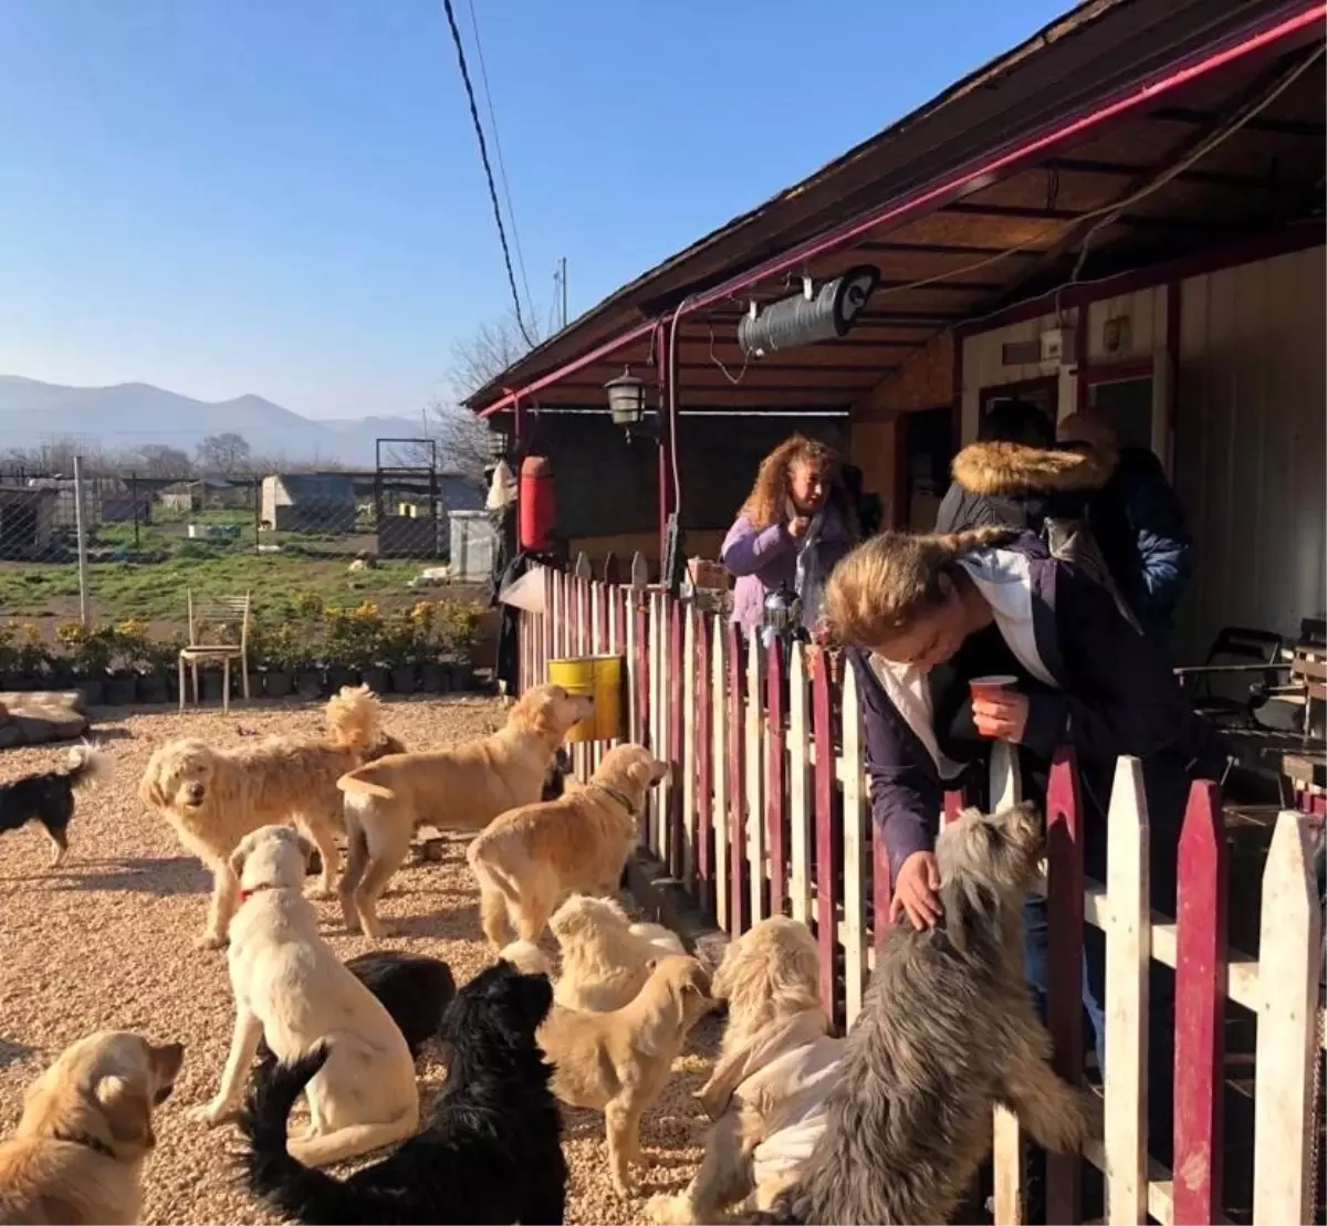
[[[721,553],[736,576],[733,620],[760,626],[764,598],[788,588],[802,597],[802,621],[820,621],[821,592],[835,563],[857,539],[857,516],[843,480],[839,454],[795,434],[762,462]]]

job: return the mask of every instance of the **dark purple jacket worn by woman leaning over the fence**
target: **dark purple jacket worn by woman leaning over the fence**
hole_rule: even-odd
[[[1024,748],[1050,762],[1056,750],[1072,747],[1084,776],[1104,780],[1105,788],[1121,754],[1144,759],[1145,768],[1220,778],[1222,748],[1189,707],[1164,651],[1124,621],[1104,588],[1052,559],[1039,537],[1024,533],[1006,548],[1028,561],[1036,650],[1060,687],[1030,695]],[[897,877],[909,856],[934,847],[945,784],[867,654],[855,650],[849,658],[863,706],[872,815]],[[1161,817],[1152,815],[1154,824]],[[1087,825],[1092,872],[1100,832],[1093,832],[1097,823]]]

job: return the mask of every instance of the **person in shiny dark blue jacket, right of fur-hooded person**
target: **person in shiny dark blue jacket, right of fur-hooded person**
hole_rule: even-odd
[[[1089,502],[1089,523],[1139,624],[1164,642],[1193,576],[1193,537],[1161,460],[1147,447],[1121,447],[1115,427],[1091,410],[1064,418],[1059,439],[1115,456],[1109,480]]]

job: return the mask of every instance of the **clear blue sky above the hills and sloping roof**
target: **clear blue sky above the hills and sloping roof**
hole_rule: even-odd
[[[455,4],[547,325],[1067,0]],[[0,374],[414,415],[511,310],[441,0],[0,0]]]

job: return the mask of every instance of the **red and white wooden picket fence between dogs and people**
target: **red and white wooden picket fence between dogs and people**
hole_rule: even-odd
[[[626,661],[632,740],[677,764],[650,799],[642,844],[727,933],[775,913],[805,922],[820,947],[821,995],[852,1024],[889,909],[884,848],[873,837],[856,678],[828,654],[746,641],[731,624],[645,582],[544,572],[545,612],[523,614],[522,689],[547,662],[618,654]],[[593,771],[604,746],[577,746]],[[993,795],[1016,792],[998,767]],[[1003,771],[1005,774],[998,774]],[[1315,1207],[1319,906],[1308,819],[1279,815],[1263,876],[1258,959],[1226,945],[1226,839],[1216,784],[1194,784],[1178,862],[1178,914],[1153,913],[1141,768],[1121,759],[1108,817],[1108,880],[1083,870],[1072,756],[1056,759],[1046,797],[1050,1030],[1058,1071],[1083,1079],[1080,975],[1084,925],[1104,931],[1109,1052],[1095,1140],[1083,1158],[1052,1158],[1050,1226],[1079,1226],[1079,1162],[1105,1173],[1112,1223],[1151,1215],[1216,1226],[1222,1215],[1223,1010],[1257,1015],[1253,1226],[1303,1226]],[[957,809],[949,797],[946,809]],[[1147,1020],[1152,961],[1176,971],[1174,1174],[1148,1154]],[[997,1111],[995,1222],[1022,1221],[1016,1120]]]

